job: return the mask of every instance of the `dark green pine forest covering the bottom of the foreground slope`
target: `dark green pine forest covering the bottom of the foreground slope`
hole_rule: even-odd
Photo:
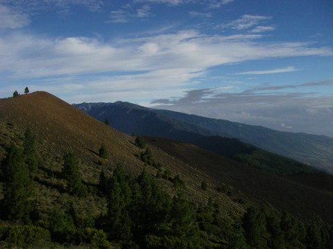
[[[92,184],[80,176],[80,155],[68,151],[58,158],[61,171],[52,171],[38,150],[40,139],[31,129],[21,136],[1,161],[1,248],[333,248],[333,227],[322,221],[300,221],[257,205],[248,205],[241,216],[225,216],[213,198],[205,205],[191,203],[185,182],[163,172],[141,137],[135,140],[142,150],[137,158],[157,168],[155,176],[145,168],[128,176],[117,163]],[[99,157],[103,165],[104,144]],[[176,194],[163,191],[158,178],[170,181]],[[40,185],[65,197],[50,205],[37,193]],[[207,183],[201,187],[207,190]],[[78,203],[85,199],[100,209],[83,211]]]

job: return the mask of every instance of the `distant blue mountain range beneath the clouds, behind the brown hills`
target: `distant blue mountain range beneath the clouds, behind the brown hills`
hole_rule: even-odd
[[[112,127],[125,133],[183,140],[205,149],[212,148],[203,145],[205,142],[197,142],[198,139],[194,137],[237,138],[241,142],[293,158],[317,169],[333,172],[333,138],[327,136],[275,131],[227,120],[148,109],[128,102],[82,103],[74,106],[101,121],[108,118]]]

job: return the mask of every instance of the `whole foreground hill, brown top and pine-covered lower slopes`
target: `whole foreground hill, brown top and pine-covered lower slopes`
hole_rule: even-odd
[[[12,214],[16,219],[2,209],[0,247],[25,248],[38,239],[42,242],[33,248],[269,246],[275,237],[266,220],[272,219],[273,228],[282,229],[278,238],[286,245],[309,245],[312,232],[330,232],[325,225],[333,221],[330,175],[277,176],[230,156],[162,138],[146,137],[146,147],[140,149],[135,136],[120,133],[45,92],[0,100],[1,208],[8,208],[7,176],[18,172],[8,169],[19,154],[16,147],[24,147],[25,161],[11,166],[25,165],[30,170],[25,149],[29,129],[35,136],[35,152],[30,148],[29,153],[35,154],[37,169],[29,174],[22,169],[19,178],[11,179],[27,189],[33,187],[35,194],[26,199],[33,209],[28,216]],[[107,158],[99,151],[102,144]],[[19,162],[18,157],[15,160]],[[31,183],[20,182],[22,178],[31,178]],[[82,179],[84,191],[72,191],[74,178]],[[260,225],[256,236],[271,234],[270,239],[253,240],[248,225]],[[290,229],[298,234],[293,239],[287,238]],[[330,248],[330,235],[325,239],[324,248]]]

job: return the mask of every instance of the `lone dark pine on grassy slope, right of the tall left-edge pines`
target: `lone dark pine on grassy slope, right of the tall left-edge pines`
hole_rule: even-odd
[[[64,156],[63,174],[67,180],[67,190],[70,194],[84,196],[87,192],[81,182],[80,172],[78,171],[78,161],[73,153],[69,152]]]

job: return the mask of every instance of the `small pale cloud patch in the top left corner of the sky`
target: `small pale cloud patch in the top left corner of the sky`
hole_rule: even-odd
[[[29,24],[28,15],[0,4],[0,30],[23,28]]]

